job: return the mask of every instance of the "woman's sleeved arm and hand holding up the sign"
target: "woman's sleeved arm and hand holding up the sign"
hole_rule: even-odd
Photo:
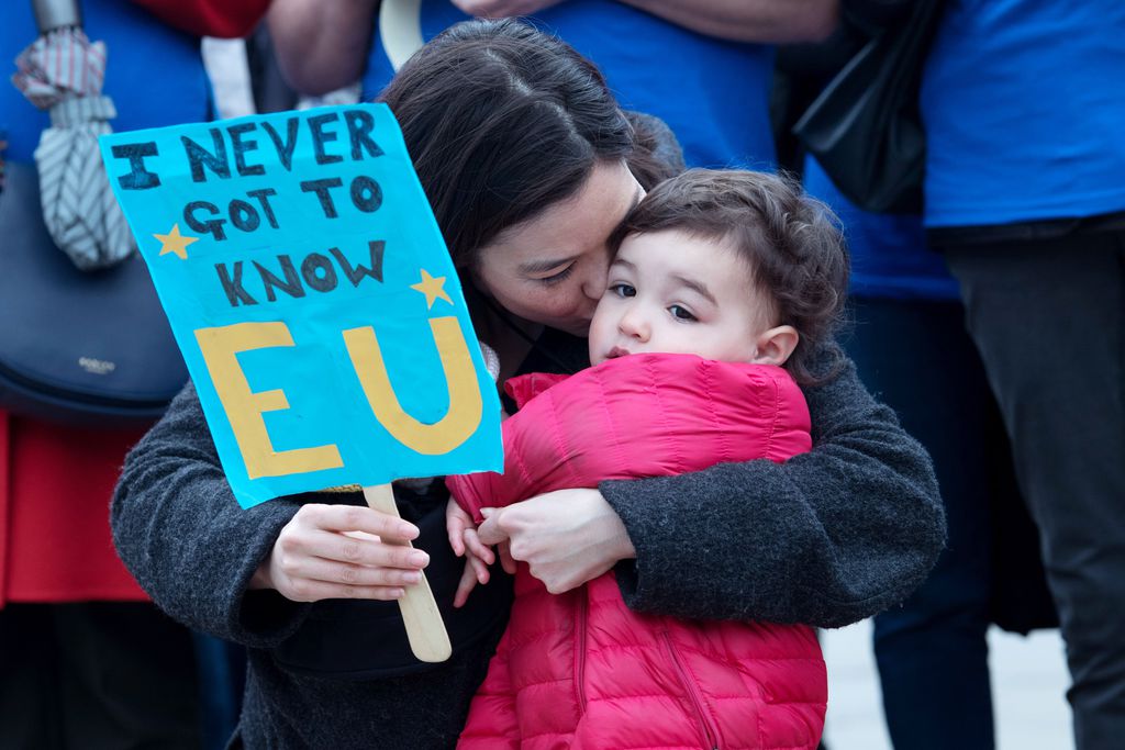
[[[295,498],[240,507],[190,385],[126,459],[110,521],[118,553],[158,606],[252,647],[294,632],[308,608],[299,602],[395,598],[426,562],[374,539],[417,528],[371,508]]]

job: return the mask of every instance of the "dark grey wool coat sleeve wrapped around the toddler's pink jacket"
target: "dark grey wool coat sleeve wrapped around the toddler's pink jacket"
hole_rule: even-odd
[[[636,561],[627,604],[680,617],[839,627],[892,606],[945,541],[929,457],[847,362],[807,392],[810,453],[600,485]]]

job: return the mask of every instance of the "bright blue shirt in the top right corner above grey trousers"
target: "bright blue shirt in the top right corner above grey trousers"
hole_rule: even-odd
[[[927,226],[1125,209],[1122,0],[950,0],[920,103]]]

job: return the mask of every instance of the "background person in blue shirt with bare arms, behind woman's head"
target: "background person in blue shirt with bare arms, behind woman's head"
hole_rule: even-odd
[[[470,16],[526,16],[593,61],[624,109],[664,120],[687,166],[771,170],[771,44],[827,36],[837,6],[837,0],[422,0],[414,28],[426,40]],[[361,80],[362,100],[374,98],[394,74],[387,43],[395,39],[386,35],[400,33],[379,28],[378,7],[375,0],[274,0],[269,26],[290,83],[315,94]]]

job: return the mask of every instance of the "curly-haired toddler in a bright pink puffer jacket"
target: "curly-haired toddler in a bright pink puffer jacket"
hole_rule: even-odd
[[[472,566],[460,600],[487,579],[490,551],[462,533],[482,507],[811,448],[798,382],[832,346],[847,282],[827,209],[781,177],[692,170],[649,193],[614,244],[594,367],[508,380],[520,409],[504,473],[448,480],[450,541]],[[826,701],[810,627],[632,612],[613,571],[552,595],[521,563],[458,747],[812,750]]]

